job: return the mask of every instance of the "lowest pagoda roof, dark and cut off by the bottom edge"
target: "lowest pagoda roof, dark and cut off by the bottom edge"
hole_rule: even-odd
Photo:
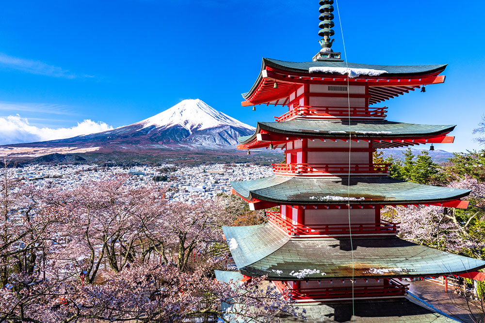
[[[307,311],[307,323],[375,322],[375,323],[444,323],[457,322],[416,304],[409,299],[357,300],[302,305]],[[355,312],[355,316],[352,313]],[[277,316],[283,323],[304,322],[288,314]]]

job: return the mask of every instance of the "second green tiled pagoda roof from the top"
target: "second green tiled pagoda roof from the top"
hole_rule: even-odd
[[[311,136],[312,138],[414,138],[416,136],[440,135],[453,131],[456,125],[433,125],[381,121],[330,121],[297,118],[283,122],[259,122],[252,136],[239,137],[241,143],[256,138],[261,130],[287,136]]]

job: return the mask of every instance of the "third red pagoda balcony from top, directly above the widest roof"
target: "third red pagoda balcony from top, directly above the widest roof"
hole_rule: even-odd
[[[352,235],[395,235],[399,231],[400,223],[381,220],[380,223],[339,223],[323,225],[303,225],[293,223],[281,217],[279,212],[266,211],[271,223],[285,231],[288,235],[299,238],[314,238],[316,236],[341,237]]]

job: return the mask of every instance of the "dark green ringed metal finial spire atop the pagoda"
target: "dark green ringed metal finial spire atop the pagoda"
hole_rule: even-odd
[[[340,53],[334,53],[332,50],[332,44],[335,39],[330,39],[335,34],[335,31],[332,29],[335,26],[333,22],[334,15],[333,12],[333,4],[334,0],[320,0],[320,23],[318,27],[320,27],[320,31],[318,34],[323,38],[319,40],[320,46],[322,49],[313,57],[313,61],[333,61],[333,62],[342,62],[340,60]]]

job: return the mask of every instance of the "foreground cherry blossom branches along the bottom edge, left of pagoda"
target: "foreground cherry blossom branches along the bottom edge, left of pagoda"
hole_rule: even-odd
[[[211,266],[212,264],[208,264]],[[0,290],[0,319],[22,322],[278,322],[275,314],[304,318],[289,294],[281,294],[264,277],[228,284],[207,277],[203,265],[195,271],[176,266],[134,264],[102,284],[49,279],[21,291]],[[191,321],[194,320],[194,321]]]

